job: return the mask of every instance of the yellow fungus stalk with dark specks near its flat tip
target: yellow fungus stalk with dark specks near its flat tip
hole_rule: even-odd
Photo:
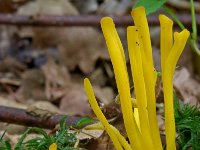
[[[128,49],[131,63],[132,77],[135,87],[135,94],[138,106],[138,115],[140,120],[140,130],[149,149],[155,149],[150,134],[147,108],[146,89],[142,69],[142,56],[140,51],[140,41],[138,29],[130,26],[127,29]]]

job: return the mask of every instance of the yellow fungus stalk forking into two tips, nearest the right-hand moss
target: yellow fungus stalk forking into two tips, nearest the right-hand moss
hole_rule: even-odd
[[[161,65],[165,102],[166,145],[167,150],[175,150],[176,130],[173,106],[173,74],[190,33],[186,29],[180,33],[175,32],[172,45],[172,21],[164,15],[160,15],[159,19],[161,25]]]

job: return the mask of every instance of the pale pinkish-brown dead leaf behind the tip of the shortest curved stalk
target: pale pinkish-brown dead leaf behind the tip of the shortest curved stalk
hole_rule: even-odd
[[[113,91],[110,88],[100,89],[98,86],[93,86],[95,96],[99,103],[109,105],[113,102]],[[93,111],[89,105],[85,90],[82,85],[71,84],[65,91],[65,96],[60,102],[61,111],[68,115],[91,116]]]

